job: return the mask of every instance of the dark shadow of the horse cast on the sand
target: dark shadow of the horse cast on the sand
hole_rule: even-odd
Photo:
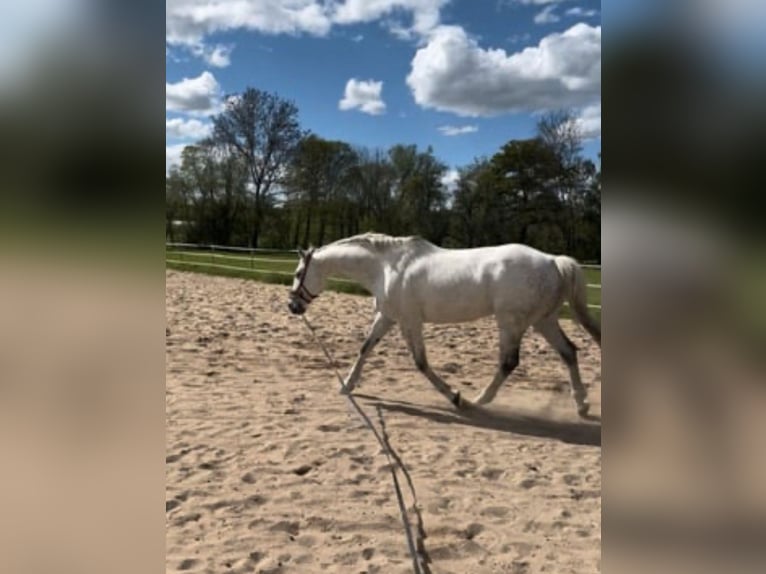
[[[601,446],[601,418],[598,416],[588,416],[581,421],[565,421],[540,414],[501,411],[477,405],[468,405],[456,411],[381,399],[362,393],[354,393],[354,396],[369,401],[372,406],[379,406],[387,412],[423,417],[437,423],[467,425],[499,432],[551,438],[570,444]]]

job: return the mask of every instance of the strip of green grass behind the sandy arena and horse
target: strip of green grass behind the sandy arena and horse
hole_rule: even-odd
[[[291,285],[293,273],[298,265],[298,256],[290,251],[258,252],[251,257],[247,252],[224,253],[220,251],[167,249],[165,251],[165,265],[169,269],[179,271],[193,271],[208,275],[239,277],[264,283]],[[601,284],[600,269],[584,269],[583,271],[588,283]],[[330,279],[328,288],[342,293],[369,295],[364,287],[350,281]],[[601,289],[588,289],[588,303],[601,305]],[[590,309],[590,312],[599,319],[601,318],[600,309]],[[569,316],[567,307],[562,310],[562,315]]]

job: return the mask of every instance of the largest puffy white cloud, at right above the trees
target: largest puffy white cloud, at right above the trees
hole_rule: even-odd
[[[440,26],[412,59],[415,101],[461,116],[582,107],[601,91],[601,27],[576,24],[512,54]]]

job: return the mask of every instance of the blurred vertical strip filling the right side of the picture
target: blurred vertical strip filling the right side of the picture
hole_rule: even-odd
[[[603,4],[606,571],[766,571],[764,16]]]

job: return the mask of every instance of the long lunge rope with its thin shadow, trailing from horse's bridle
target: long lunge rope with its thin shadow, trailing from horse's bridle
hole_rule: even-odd
[[[330,366],[335,371],[335,375],[338,377],[338,381],[340,382],[341,389],[345,387],[343,384],[343,377],[338,372],[338,368],[335,366],[335,360],[333,359],[330,352],[327,350],[327,347],[325,347],[322,340],[317,336],[316,330],[314,329],[313,325],[309,323],[308,319],[306,319],[305,315],[301,315],[301,319],[303,319],[303,323],[308,328],[309,332],[311,333],[311,336],[314,338],[314,340],[317,342],[319,347],[322,349],[322,351],[325,354],[325,357],[327,357],[327,360],[330,363]],[[417,495],[415,494],[415,487],[412,482],[412,478],[410,477],[409,472],[407,471],[407,468],[404,466],[404,463],[402,462],[402,459],[399,457],[399,455],[396,453],[396,451],[393,449],[391,444],[388,441],[388,434],[386,433],[386,426],[385,422],[383,421],[383,413],[378,407],[378,418],[380,420],[380,427],[381,431],[378,431],[378,429],[373,424],[372,420],[369,416],[367,416],[367,413],[364,412],[362,407],[359,406],[359,403],[356,401],[356,399],[351,394],[346,394],[346,399],[348,399],[349,403],[351,403],[351,406],[354,408],[356,413],[359,415],[359,417],[362,419],[362,422],[364,422],[365,426],[372,431],[372,434],[375,436],[375,439],[378,441],[378,444],[380,444],[380,447],[383,449],[383,453],[386,455],[386,458],[388,459],[388,467],[391,471],[391,477],[394,481],[394,490],[396,491],[396,500],[399,505],[399,513],[402,516],[402,523],[404,524],[404,534],[407,537],[407,547],[410,551],[410,556],[412,557],[412,567],[414,569],[415,574],[431,574],[431,569],[428,567],[428,563],[431,561],[430,557],[428,556],[428,552],[425,549],[425,543],[424,539],[426,538],[425,528],[423,527],[423,517],[420,514],[420,510],[418,509],[418,499]],[[412,494],[413,499],[413,508],[415,510],[415,514],[417,515],[417,533],[413,535],[412,532],[412,523],[409,519],[409,514],[407,512],[407,507],[404,504],[404,496],[402,495],[401,487],[399,486],[399,478],[396,474],[396,469],[401,470],[402,474],[404,474],[407,484],[410,487],[410,493]]]

